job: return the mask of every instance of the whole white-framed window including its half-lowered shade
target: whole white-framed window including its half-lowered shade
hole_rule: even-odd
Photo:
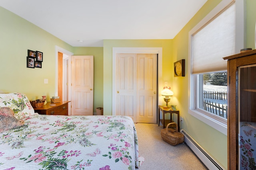
[[[243,6],[240,8],[243,11]],[[235,36],[240,22],[237,12],[235,2],[223,0],[189,32],[188,112],[224,134],[228,116],[227,62],[222,58],[235,54],[239,48]]]

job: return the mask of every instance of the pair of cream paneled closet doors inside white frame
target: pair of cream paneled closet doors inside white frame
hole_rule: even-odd
[[[157,54],[116,55],[116,115],[156,123]]]

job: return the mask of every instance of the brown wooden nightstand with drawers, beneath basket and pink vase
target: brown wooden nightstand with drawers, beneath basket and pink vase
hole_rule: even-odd
[[[34,108],[35,112],[40,115],[68,115],[68,102],[70,101],[61,101],[58,103],[47,103],[46,105]],[[55,104],[54,106],[50,106]]]

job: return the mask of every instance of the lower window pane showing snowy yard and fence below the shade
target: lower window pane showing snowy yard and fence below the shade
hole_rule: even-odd
[[[226,123],[227,119],[227,72],[196,75],[198,102],[196,109]]]

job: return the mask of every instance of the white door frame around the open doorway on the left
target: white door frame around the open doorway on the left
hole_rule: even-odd
[[[55,94],[54,94],[55,96],[58,96],[58,52],[68,56],[68,57],[65,57],[65,59],[63,59],[63,60],[66,60],[68,63],[68,67],[66,66],[63,67],[64,69],[63,72],[64,74],[68,72],[68,101],[71,101],[71,56],[74,55],[74,53],[55,45]],[[66,69],[68,69],[68,71],[66,71]],[[71,114],[71,102],[68,102],[68,115],[70,114]]]

